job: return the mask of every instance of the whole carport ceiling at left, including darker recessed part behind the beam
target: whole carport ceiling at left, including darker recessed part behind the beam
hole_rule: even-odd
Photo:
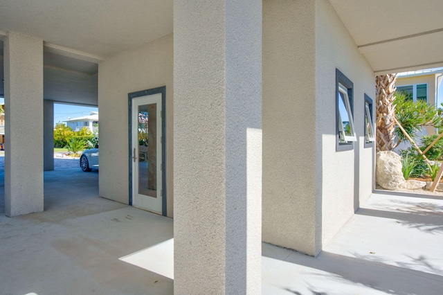
[[[172,33],[172,0],[0,0],[8,31],[44,40],[45,99],[98,105],[98,62]]]

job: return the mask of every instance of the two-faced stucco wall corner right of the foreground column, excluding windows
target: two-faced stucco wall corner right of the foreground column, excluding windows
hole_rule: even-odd
[[[372,193],[364,93],[374,74],[327,0],[263,2],[263,240],[316,255]],[[336,152],[336,69],[358,142]]]

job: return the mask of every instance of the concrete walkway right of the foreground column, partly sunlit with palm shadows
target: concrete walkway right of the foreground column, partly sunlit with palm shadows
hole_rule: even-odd
[[[443,200],[372,195],[317,258],[263,248],[263,294],[443,294]]]

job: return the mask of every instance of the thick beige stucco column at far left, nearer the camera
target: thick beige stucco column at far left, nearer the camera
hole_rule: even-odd
[[[5,64],[5,209],[43,211],[43,41],[9,33]]]

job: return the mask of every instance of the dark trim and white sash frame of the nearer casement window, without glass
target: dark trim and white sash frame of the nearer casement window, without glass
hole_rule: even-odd
[[[343,120],[339,111],[340,100],[342,99],[339,93],[343,93],[343,102],[347,111],[347,116],[350,120],[350,128],[352,136],[346,136],[344,134]],[[354,142],[357,141],[356,129],[354,127],[354,83],[349,80],[341,71],[336,69],[336,152],[342,152],[345,150],[353,150]],[[340,136],[340,132],[343,130],[345,136],[343,141]]]

